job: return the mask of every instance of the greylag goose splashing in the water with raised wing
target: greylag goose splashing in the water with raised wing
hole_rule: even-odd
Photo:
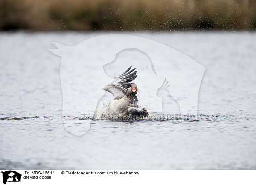
[[[105,117],[109,119],[123,120],[137,116],[142,118],[148,116],[148,111],[137,105],[138,88],[135,83],[131,83],[137,77],[137,71],[134,71],[136,68],[131,69],[131,67],[102,88],[114,96],[114,100],[108,104],[105,111]]]

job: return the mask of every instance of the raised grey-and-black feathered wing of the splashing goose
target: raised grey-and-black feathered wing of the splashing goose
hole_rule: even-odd
[[[137,71],[134,70],[135,68],[131,69],[130,66],[125,72],[105,84],[102,89],[113,94],[114,99],[124,97],[127,93],[127,89],[131,87],[131,81],[137,77]]]

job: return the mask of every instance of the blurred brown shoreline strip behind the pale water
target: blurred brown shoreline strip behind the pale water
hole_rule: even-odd
[[[0,31],[256,30],[255,0],[0,2]]]

